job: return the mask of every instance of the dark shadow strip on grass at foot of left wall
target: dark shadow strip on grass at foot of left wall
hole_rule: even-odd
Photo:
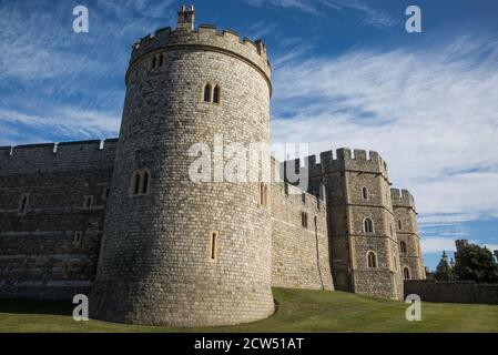
[[[0,298],[0,313],[72,315],[71,301]]]

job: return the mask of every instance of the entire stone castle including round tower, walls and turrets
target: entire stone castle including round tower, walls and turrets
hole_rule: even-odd
[[[119,141],[0,148],[0,296],[91,291],[92,317],[173,326],[264,318],[272,285],[400,298],[403,264],[424,273],[416,213],[405,193],[392,203],[376,152],[309,156],[308,193],[275,182],[268,203],[260,182],[216,181],[230,143],[270,142],[271,67],[263,42],[193,17],[133,45]],[[199,143],[212,170],[193,181]]]

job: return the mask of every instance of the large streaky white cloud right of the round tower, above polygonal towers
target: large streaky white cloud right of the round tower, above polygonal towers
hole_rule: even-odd
[[[498,217],[498,42],[284,62],[274,73],[277,142],[378,151],[426,222]]]

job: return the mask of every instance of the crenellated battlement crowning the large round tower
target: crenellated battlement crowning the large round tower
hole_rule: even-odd
[[[126,81],[134,65],[142,59],[148,58],[149,54],[159,51],[204,49],[223,52],[246,61],[265,77],[270,85],[271,65],[266,55],[266,45],[262,40],[254,42],[248,38],[242,38],[232,30],[217,30],[212,24],[201,24],[195,30],[193,17],[189,20],[189,17],[185,17],[186,13],[185,10],[180,10],[176,29],[162,28],[133,44]],[[192,22],[186,23],[185,21]]]

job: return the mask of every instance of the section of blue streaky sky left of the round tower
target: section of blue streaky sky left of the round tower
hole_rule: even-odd
[[[99,0],[83,34],[69,3],[1,7],[0,145],[115,136],[129,44],[175,21],[171,3]]]

